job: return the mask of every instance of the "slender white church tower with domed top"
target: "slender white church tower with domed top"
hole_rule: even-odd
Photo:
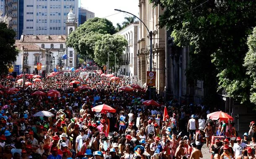
[[[70,12],[68,13],[68,18],[66,20],[66,39],[68,40],[69,35],[72,31],[75,31],[77,28],[77,18],[73,13],[73,7],[71,7]],[[77,54],[73,48],[67,47],[66,54],[68,55],[68,59],[66,60],[66,66],[69,68],[77,67]]]

